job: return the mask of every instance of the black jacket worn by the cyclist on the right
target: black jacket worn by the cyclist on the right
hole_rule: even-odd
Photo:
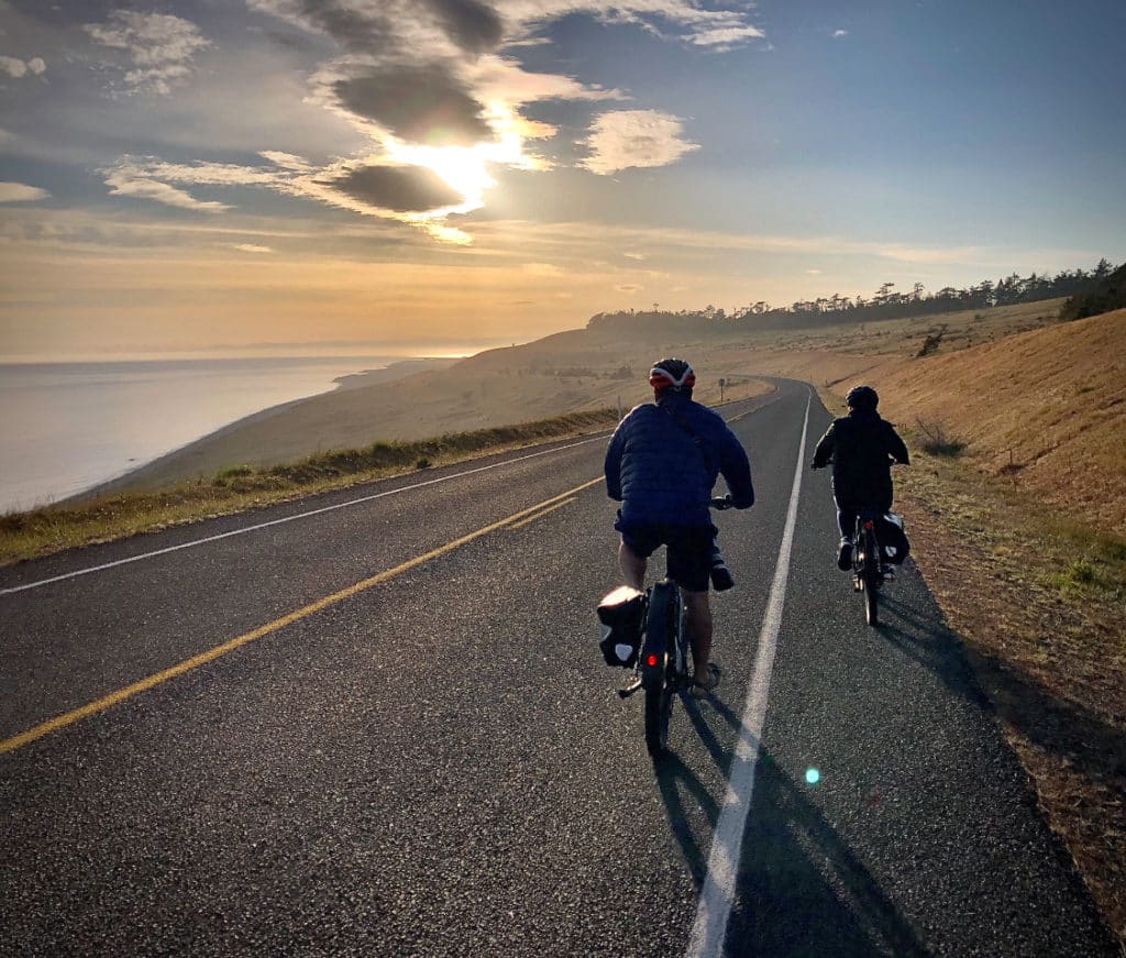
[[[844,509],[892,508],[892,462],[911,457],[895,428],[874,410],[834,419],[813,451],[813,468],[833,464],[833,496]]]

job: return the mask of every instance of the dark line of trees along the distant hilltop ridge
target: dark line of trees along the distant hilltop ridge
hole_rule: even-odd
[[[656,332],[680,330],[687,323],[696,330],[733,332],[895,320],[960,310],[988,310],[1064,296],[1074,298],[1101,288],[1114,277],[1120,277],[1124,270],[1126,263],[1116,270],[1110,262],[1101,259],[1090,270],[1062,270],[1055,276],[1033,272],[1024,277],[1013,272],[995,283],[983,279],[964,289],[946,286],[936,293],[929,293],[921,283],[915,283],[910,292],[903,292],[896,289],[894,283],[885,283],[868,297],[859,294],[849,297],[834,293],[816,299],[799,299],[788,306],[771,306],[759,301],[736,307],[730,313],[713,305],[703,310],[669,312],[662,311],[654,303],[652,311],[597,313],[588,321],[587,329]]]

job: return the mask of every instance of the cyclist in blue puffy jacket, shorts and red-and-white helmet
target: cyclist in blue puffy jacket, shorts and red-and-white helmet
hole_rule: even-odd
[[[708,581],[718,531],[709,511],[712,490],[722,474],[732,505],[750,508],[751,466],[723,418],[692,401],[696,374],[683,359],[655,362],[649,383],[655,402],[631,410],[606,450],[606,491],[622,503],[614,525],[622,534],[618,561],[626,583],[641,590],[649,557],[667,546],[669,578],[685,599],[692,693],[706,696],[720,681],[711,661]]]

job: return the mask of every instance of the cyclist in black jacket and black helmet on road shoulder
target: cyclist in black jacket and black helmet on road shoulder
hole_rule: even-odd
[[[841,530],[837,566],[852,567],[852,531],[861,509],[892,508],[892,463],[910,464],[908,447],[890,422],[879,418],[879,396],[872,386],[854,386],[844,396],[848,415],[834,419],[813,451],[812,468],[833,464],[833,499]]]

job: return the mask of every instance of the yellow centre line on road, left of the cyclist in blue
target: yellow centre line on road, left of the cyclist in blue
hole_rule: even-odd
[[[91,715],[105,711],[107,708],[119,705],[126,699],[131,699],[141,692],[149,691],[149,689],[155,688],[157,686],[160,686],[170,679],[175,679],[178,675],[182,675],[186,672],[190,672],[194,669],[198,669],[200,665],[206,665],[208,662],[214,662],[216,659],[226,655],[229,652],[233,652],[234,650],[241,648],[243,645],[248,645],[249,643],[262,638],[270,633],[275,633],[288,625],[293,625],[294,623],[309,618],[314,612],[320,612],[330,606],[336,606],[338,602],[342,602],[345,599],[350,599],[352,596],[357,596],[360,592],[370,589],[373,585],[378,585],[381,582],[386,582],[388,579],[394,579],[396,575],[401,575],[404,572],[417,568],[423,563],[427,563],[432,558],[437,558],[438,556],[446,555],[446,553],[450,553],[461,546],[467,545],[475,539],[480,539],[482,536],[488,536],[490,532],[494,532],[506,526],[511,526],[513,522],[518,523],[525,519],[531,521],[531,519],[538,518],[537,513],[544,512],[545,509],[549,510],[557,508],[557,505],[565,505],[566,502],[563,500],[573,502],[577,493],[590,489],[592,485],[601,481],[602,477],[598,476],[597,478],[590,480],[590,482],[584,482],[582,485],[575,486],[574,489],[568,490],[558,495],[553,495],[551,499],[545,499],[543,502],[539,502],[529,509],[524,509],[506,519],[483,526],[476,531],[446,543],[444,546],[438,546],[438,548],[423,553],[420,556],[415,556],[414,558],[404,562],[402,565],[396,565],[394,568],[388,568],[385,572],[381,572],[378,575],[373,575],[370,579],[365,579],[361,582],[357,582],[355,585],[349,585],[347,589],[341,589],[339,592],[333,592],[331,596],[318,599],[315,602],[310,602],[310,605],[303,606],[302,608],[296,609],[279,619],[275,619],[271,623],[267,623],[263,626],[259,626],[244,635],[240,635],[238,638],[232,638],[230,642],[224,642],[222,645],[208,648],[199,655],[185,659],[182,662],[172,665],[170,669],[164,669],[162,672],[157,672],[155,674],[149,675],[138,682],[134,682],[132,686],[126,686],[124,689],[110,692],[108,696],[104,696],[102,698],[96,699],[88,705],[83,705],[81,708],[75,708],[72,711],[68,711],[64,715],[48,719],[47,722],[34,726],[33,728],[28,728],[26,732],[21,732],[18,735],[5,738],[3,741],[0,741],[0,754],[15,752],[17,749],[23,747],[37,738],[42,738],[44,735],[50,735],[52,732],[57,732],[61,728],[73,725],[75,722],[81,722],[83,718],[89,718]]]

